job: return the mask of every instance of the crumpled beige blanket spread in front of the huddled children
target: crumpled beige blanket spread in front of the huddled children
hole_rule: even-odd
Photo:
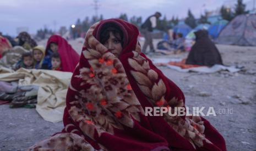
[[[71,72],[24,68],[15,72],[8,68],[0,68],[0,80],[2,81],[19,80],[19,85],[40,86],[36,111],[43,119],[52,123],[62,121],[71,77]]]

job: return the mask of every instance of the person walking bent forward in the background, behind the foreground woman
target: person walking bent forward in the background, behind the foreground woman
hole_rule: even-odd
[[[157,25],[157,19],[161,17],[161,13],[156,12],[154,15],[149,16],[148,19],[141,25],[141,33],[145,37],[145,43],[141,50],[142,53],[146,53],[146,48],[149,45],[150,51],[155,52],[154,45],[152,43],[152,31]]]

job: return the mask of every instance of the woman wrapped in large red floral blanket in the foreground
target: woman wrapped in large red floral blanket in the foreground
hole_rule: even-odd
[[[90,27],[69,85],[64,129],[31,150],[226,150],[204,118],[145,116],[145,107],[184,107],[184,95],[140,53],[138,35],[119,19]]]

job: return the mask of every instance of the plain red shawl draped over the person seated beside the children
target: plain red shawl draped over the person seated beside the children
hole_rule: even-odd
[[[53,35],[48,39],[46,45],[46,55],[50,49],[50,44],[58,45],[58,53],[61,56],[62,71],[73,72],[79,62],[79,54],[68,44],[67,40],[58,35]]]

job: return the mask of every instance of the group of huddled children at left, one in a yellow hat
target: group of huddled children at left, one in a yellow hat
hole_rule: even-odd
[[[50,49],[45,53],[45,48],[37,45],[32,48],[32,52],[23,53],[21,60],[15,65],[15,70],[19,68],[26,69],[52,69],[61,71],[61,57],[58,53],[58,46],[55,43],[50,44]]]

